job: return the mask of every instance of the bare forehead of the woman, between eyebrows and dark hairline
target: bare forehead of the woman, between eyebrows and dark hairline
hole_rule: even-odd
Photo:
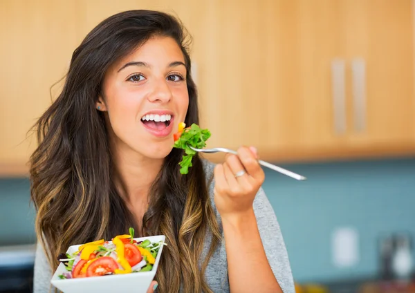
[[[128,62],[146,62],[154,66],[167,66],[171,62],[185,62],[180,46],[172,37],[151,37],[127,56],[116,62],[120,68]]]

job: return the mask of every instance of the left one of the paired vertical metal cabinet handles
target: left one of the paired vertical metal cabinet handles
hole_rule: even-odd
[[[344,60],[331,62],[331,91],[333,94],[333,113],[335,133],[346,131],[346,88],[344,81]]]

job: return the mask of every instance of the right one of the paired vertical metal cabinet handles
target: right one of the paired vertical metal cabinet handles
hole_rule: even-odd
[[[363,131],[366,128],[366,66],[364,59],[352,60],[351,75],[353,124],[356,131]]]

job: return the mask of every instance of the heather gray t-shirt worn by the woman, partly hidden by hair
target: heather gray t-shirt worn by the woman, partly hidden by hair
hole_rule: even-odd
[[[206,178],[210,180],[213,176],[214,164],[203,161],[205,167]],[[216,207],[214,206],[214,180],[210,183],[209,193],[212,202],[212,206],[216,213],[216,218],[221,228],[222,236],[223,230],[221,225],[221,217],[219,216]],[[257,224],[259,228],[259,234],[261,236],[262,243],[270,263],[271,269],[274,272],[275,278],[282,288],[284,293],[295,293],[293,274],[291,272],[291,266],[288,261],[288,254],[284,239],[282,237],[277,217],[273,207],[270,205],[264,190],[260,189],[254,200],[254,211],[257,217]],[[205,246],[202,252],[202,259],[208,253],[210,247],[210,235],[207,236]],[[48,265],[48,261],[44,254],[44,251],[40,245],[37,245],[36,257],[35,257],[35,273],[33,293],[46,293],[50,290],[50,278],[52,278],[52,272]],[[213,292],[228,293],[229,281],[228,281],[228,263],[226,259],[225,243],[221,243],[217,247],[216,253],[210,258],[208,267],[205,272],[205,278],[208,285]]]

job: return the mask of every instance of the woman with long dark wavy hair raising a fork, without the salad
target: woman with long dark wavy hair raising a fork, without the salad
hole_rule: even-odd
[[[173,133],[199,123],[186,41],[173,17],[133,10],[102,21],[73,53],[35,125],[35,293],[49,290],[68,246],[128,227],[167,237],[148,292],[294,292],[255,149],[216,166],[196,155],[179,173]]]

